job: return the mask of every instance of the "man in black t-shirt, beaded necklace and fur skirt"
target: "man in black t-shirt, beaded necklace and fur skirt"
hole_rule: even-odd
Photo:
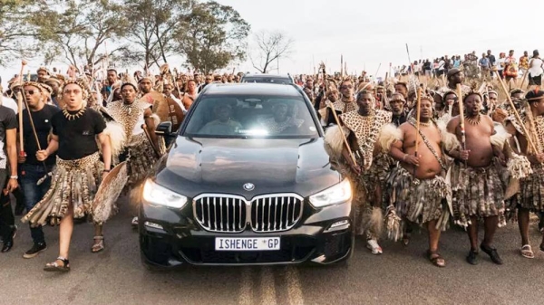
[[[53,135],[49,145],[36,152],[38,161],[57,153],[51,187],[22,219],[33,227],[60,224],[59,256],[45,265],[46,272],[70,271],[68,254],[73,218],[90,215],[94,221],[92,201],[100,181],[111,170],[112,150],[110,138],[104,132],[106,123],[98,112],[85,107],[89,94],[88,86],[82,80],[64,83],[66,107],[51,119]],[[93,240],[92,252],[103,250],[102,223],[94,221]]]

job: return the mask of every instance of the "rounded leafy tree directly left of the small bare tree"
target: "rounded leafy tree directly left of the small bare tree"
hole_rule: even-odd
[[[194,5],[175,35],[186,65],[208,73],[246,58],[249,24],[228,5],[209,1]]]

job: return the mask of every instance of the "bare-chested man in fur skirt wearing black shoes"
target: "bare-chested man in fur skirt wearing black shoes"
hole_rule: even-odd
[[[465,109],[465,148],[449,152],[455,158],[451,169],[455,223],[468,227],[471,251],[467,262],[477,264],[478,222],[483,218],[485,235],[480,249],[490,255],[491,261],[502,264],[497,249],[491,246],[497,226],[504,220],[504,190],[499,170],[492,160],[499,157],[503,161],[504,156],[500,149],[491,146],[495,130],[491,118],[480,113],[481,94],[470,91],[462,103]],[[460,116],[453,117],[447,129],[461,141],[460,122]]]

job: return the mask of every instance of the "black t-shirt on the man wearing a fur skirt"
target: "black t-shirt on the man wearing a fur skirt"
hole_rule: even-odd
[[[78,111],[68,111],[76,114]],[[87,157],[98,151],[96,136],[106,129],[106,122],[95,110],[87,108],[77,119],[68,120],[63,112],[52,119],[53,134],[59,137],[57,155],[63,160]]]

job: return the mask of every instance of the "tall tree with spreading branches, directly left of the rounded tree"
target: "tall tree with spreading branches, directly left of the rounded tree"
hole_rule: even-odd
[[[173,34],[191,4],[191,0],[125,0],[132,59],[145,62],[146,69],[153,63],[160,66],[160,60],[166,62],[175,51]]]

